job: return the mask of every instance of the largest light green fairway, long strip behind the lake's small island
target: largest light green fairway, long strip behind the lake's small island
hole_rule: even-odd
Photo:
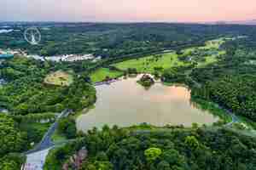
[[[130,59],[117,64],[116,68],[126,71],[128,68],[135,68],[138,72],[154,73],[155,67],[162,67],[163,70],[173,66],[186,65],[177,58],[176,53],[160,54],[160,57],[154,55],[146,56],[139,59]]]

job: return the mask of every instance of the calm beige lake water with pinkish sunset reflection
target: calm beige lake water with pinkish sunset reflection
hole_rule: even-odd
[[[146,90],[137,84],[137,78],[96,87],[96,107],[79,116],[79,130],[86,131],[104,124],[129,127],[147,122],[155,126],[183,124],[189,127],[193,122],[202,125],[218,121],[218,117],[191,105],[187,88],[157,82]]]

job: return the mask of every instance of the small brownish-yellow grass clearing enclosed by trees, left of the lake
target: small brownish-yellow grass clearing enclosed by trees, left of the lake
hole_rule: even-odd
[[[73,76],[64,71],[55,71],[45,77],[44,82],[56,86],[69,86],[73,82]]]

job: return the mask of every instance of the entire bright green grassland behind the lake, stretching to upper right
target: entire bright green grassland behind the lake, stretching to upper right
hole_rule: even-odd
[[[206,42],[205,46],[202,46],[202,47],[185,48],[183,49],[183,55],[191,55],[191,59],[194,62],[196,57],[204,58],[205,61],[196,61],[198,62],[198,67],[204,67],[206,65],[212,64],[218,61],[218,55],[225,54],[224,50],[219,50],[220,45],[225,42],[225,39],[231,39],[231,38],[221,37],[221,38]],[[207,52],[209,51],[210,51],[210,54],[209,53],[207,54]],[[211,51],[212,51],[212,54],[211,54]],[[196,56],[196,53],[192,53],[192,52],[201,53],[202,56]],[[181,56],[182,55],[180,55],[180,57]],[[179,55],[177,55],[175,52],[170,52],[168,54],[149,55],[149,56],[144,56],[138,59],[129,59],[123,62],[113,64],[112,66],[122,71],[127,71],[129,68],[131,68],[131,69],[137,69],[137,72],[139,73],[154,74],[155,72],[154,68],[158,68],[158,72],[160,73],[166,69],[169,69],[175,66],[189,65],[187,62],[184,62],[178,59],[178,57]],[[90,75],[90,78],[92,82],[101,82],[107,76],[113,78],[113,77],[119,77],[120,75],[122,75],[122,73],[119,71],[109,71],[109,69],[107,68],[102,68],[92,73]]]

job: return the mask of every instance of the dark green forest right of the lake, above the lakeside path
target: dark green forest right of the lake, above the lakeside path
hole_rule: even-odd
[[[195,68],[189,75],[203,88],[192,90],[195,98],[212,100],[237,115],[256,122],[256,65],[253,37],[224,43],[227,54],[217,63]]]

